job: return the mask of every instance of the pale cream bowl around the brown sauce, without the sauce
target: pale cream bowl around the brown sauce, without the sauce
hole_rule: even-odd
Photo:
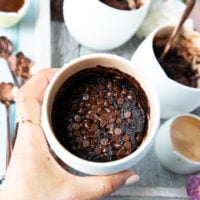
[[[0,11],[0,28],[7,28],[17,24],[27,13],[30,0],[25,0],[18,12]]]

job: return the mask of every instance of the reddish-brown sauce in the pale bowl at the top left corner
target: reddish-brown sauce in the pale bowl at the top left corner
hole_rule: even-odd
[[[0,0],[0,11],[18,12],[25,0]]]

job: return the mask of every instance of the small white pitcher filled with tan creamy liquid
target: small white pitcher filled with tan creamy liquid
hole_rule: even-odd
[[[196,132],[198,130],[198,140],[192,138],[191,127],[195,127]],[[188,134],[188,139],[190,140],[187,145],[184,146],[183,142],[180,143],[184,137],[182,129],[184,129],[185,134]],[[187,129],[189,129],[188,132],[186,131]],[[156,136],[155,151],[161,163],[169,170],[178,174],[194,173],[200,171],[200,154],[197,152],[200,148],[195,151],[195,154],[191,153],[190,149],[187,148],[189,145],[193,144],[191,141],[196,144],[200,141],[200,117],[193,114],[177,115],[167,120],[160,127]],[[186,141],[184,141],[184,144],[185,142]],[[192,157],[195,157],[197,154],[199,155],[199,161],[197,159],[192,159]]]

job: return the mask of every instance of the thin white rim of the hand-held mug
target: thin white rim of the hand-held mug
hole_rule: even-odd
[[[82,60],[85,60],[85,59],[91,59],[91,58],[96,58],[98,56],[98,58],[100,58],[100,57],[102,57],[102,58],[108,58],[108,59],[110,59],[111,57],[112,57],[112,59],[113,58],[116,58],[116,59],[120,59],[120,60],[123,60],[123,62],[126,62],[128,65],[131,65],[131,63],[127,60],[127,59],[125,59],[125,58],[122,58],[122,57],[120,57],[120,56],[117,56],[117,55],[112,55],[112,54],[107,54],[107,53],[94,53],[94,54],[90,54],[90,55],[86,55],[86,56],[81,56],[81,57],[79,57],[79,58],[77,58],[77,59],[75,59],[75,60],[73,60],[73,61],[71,61],[70,63],[68,63],[68,64],[66,64],[66,65],[64,65],[65,67],[63,67],[63,68],[61,68],[60,69],[60,71],[53,77],[53,79],[52,79],[52,81],[50,82],[50,84],[49,84],[49,87],[47,88],[47,91],[46,91],[46,94],[47,95],[45,95],[44,96],[44,103],[45,103],[45,105],[47,105],[47,102],[48,102],[48,95],[49,95],[49,93],[51,93],[51,86],[52,85],[54,85],[54,83],[55,82],[57,82],[57,79],[60,77],[60,75],[68,68],[68,67],[71,67],[72,65],[74,65],[75,63],[77,63],[77,62],[81,62]],[[110,57],[111,56],[111,57]],[[142,76],[141,75],[141,73],[139,73],[137,70],[135,71],[136,72],[136,74],[140,74],[140,76]],[[76,72],[75,72],[76,73]],[[137,80],[137,79],[136,79]],[[138,80],[137,80],[138,81]],[[144,78],[143,78],[143,76],[142,76],[142,82],[144,82],[145,83],[145,85],[146,85],[146,87],[148,87],[149,89],[148,90],[150,90],[151,91],[151,94],[153,94],[153,101],[155,101],[155,104],[156,105],[152,105],[154,108],[155,108],[155,112],[157,112],[157,119],[155,118],[154,120],[157,120],[157,121],[154,121],[154,123],[152,123],[151,122],[151,132],[153,133],[153,134],[150,134],[149,136],[148,136],[148,140],[144,140],[143,141],[143,143],[142,143],[142,145],[140,145],[140,147],[136,150],[136,151],[134,151],[134,152],[132,152],[130,155],[128,155],[128,156],[126,156],[126,157],[124,157],[124,158],[122,158],[122,159],[120,159],[120,160],[115,160],[115,161],[110,161],[110,162],[94,162],[94,161],[88,161],[88,160],[85,160],[85,159],[82,159],[82,158],[80,158],[80,157],[78,157],[78,156],[76,156],[76,155],[74,155],[73,153],[71,153],[70,151],[68,151],[67,149],[65,149],[61,144],[60,144],[60,142],[58,141],[58,139],[56,138],[56,136],[55,136],[55,134],[53,134],[54,133],[54,131],[53,131],[53,129],[52,129],[52,127],[50,127],[50,124],[49,124],[49,121],[48,121],[48,115],[47,115],[47,113],[46,113],[46,109],[47,108],[45,108],[45,106],[42,108],[42,125],[43,125],[43,127],[45,127],[44,128],[44,130],[47,130],[47,128],[48,128],[48,130],[45,132],[45,135],[46,135],[46,137],[47,137],[47,140],[48,140],[48,142],[49,142],[49,144],[50,144],[50,146],[52,147],[52,149],[53,149],[53,151],[57,154],[57,151],[58,151],[58,149],[59,149],[59,151],[62,151],[62,153],[64,153],[64,154],[66,154],[66,155],[68,155],[68,156],[70,156],[71,158],[73,158],[73,159],[76,159],[77,160],[77,162],[78,162],[78,160],[81,162],[81,163],[84,163],[85,165],[87,165],[87,166],[90,166],[90,167],[95,167],[95,168],[98,168],[98,169],[101,169],[101,167],[102,166],[107,166],[107,167],[112,167],[112,166],[117,166],[118,164],[122,164],[122,163],[126,163],[127,161],[129,161],[130,160],[130,158],[131,157],[138,157],[139,155],[140,155],[140,153],[142,152],[142,151],[144,151],[145,149],[147,149],[148,148],[148,145],[151,143],[151,141],[153,140],[153,138],[154,138],[154,136],[156,135],[156,130],[157,130],[157,125],[159,124],[159,122],[160,122],[160,108],[159,108],[159,101],[158,101],[158,98],[157,98],[157,95],[156,95],[156,93],[155,93],[155,91],[154,91],[154,89],[152,89],[152,87],[151,86],[147,86],[147,84],[146,84],[146,80],[144,81]],[[59,84],[59,87],[62,85],[62,83],[60,83]],[[58,88],[59,88],[58,87]],[[151,96],[151,98],[152,98],[152,96]],[[150,116],[151,116],[151,114],[150,114]],[[45,119],[45,120],[44,120]],[[43,121],[44,120],[44,121]],[[152,121],[152,119],[151,119],[151,121]],[[149,127],[149,126],[148,126]],[[58,154],[57,154],[57,156],[58,157],[60,157]],[[62,159],[62,158],[61,158]],[[68,163],[69,164],[69,163]],[[69,164],[70,165],[70,164]]]

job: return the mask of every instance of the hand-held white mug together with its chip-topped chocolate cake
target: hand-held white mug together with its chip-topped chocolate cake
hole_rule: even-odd
[[[52,80],[42,124],[64,163],[88,174],[110,174],[147,153],[159,125],[159,103],[128,60],[92,54],[66,64]]]

